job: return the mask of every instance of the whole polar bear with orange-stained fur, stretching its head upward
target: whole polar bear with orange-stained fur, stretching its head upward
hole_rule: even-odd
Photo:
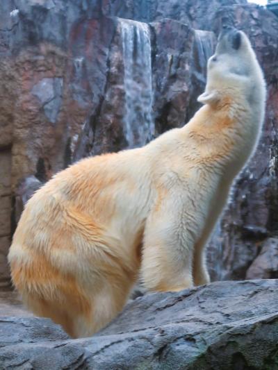
[[[160,292],[209,282],[204,246],[264,117],[263,74],[245,33],[222,31],[198,100],[182,128],[81,160],[28,201],[8,259],[35,314],[85,337],[122,310],[138,276]]]

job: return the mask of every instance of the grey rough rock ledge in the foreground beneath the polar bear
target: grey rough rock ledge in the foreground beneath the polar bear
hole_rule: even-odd
[[[0,319],[0,369],[278,367],[278,280],[149,294],[97,335],[69,339],[47,319]]]

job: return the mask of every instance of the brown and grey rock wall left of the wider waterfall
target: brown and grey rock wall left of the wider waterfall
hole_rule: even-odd
[[[0,195],[5,207],[0,242],[6,250],[0,255],[0,284],[9,283],[6,254],[28,178],[44,183],[70,165],[83,126],[99,115],[116,24],[100,17],[96,1],[1,4],[0,162],[5,164],[0,166]],[[100,135],[106,136],[104,129]],[[103,151],[110,146],[115,150],[109,142]],[[89,154],[87,146],[81,151],[80,157]]]

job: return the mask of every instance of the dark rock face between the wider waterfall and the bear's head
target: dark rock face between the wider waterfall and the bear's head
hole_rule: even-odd
[[[156,133],[181,127],[199,108],[204,91],[206,61],[213,54],[215,35],[195,31],[165,19],[152,23],[154,119]]]

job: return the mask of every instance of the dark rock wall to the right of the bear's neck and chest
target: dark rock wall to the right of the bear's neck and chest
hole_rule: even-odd
[[[211,242],[215,279],[275,278],[278,273],[278,18],[256,6],[227,7],[216,14],[215,31],[220,20],[231,22],[249,35],[263,67],[268,85],[268,102],[259,147],[234,186],[227,211]],[[269,247],[269,248],[268,248]],[[263,262],[268,249],[272,263]],[[276,250],[275,253],[272,251]],[[261,274],[251,265],[258,258]],[[260,262],[261,261],[261,262]],[[270,274],[270,271],[271,274]]]

